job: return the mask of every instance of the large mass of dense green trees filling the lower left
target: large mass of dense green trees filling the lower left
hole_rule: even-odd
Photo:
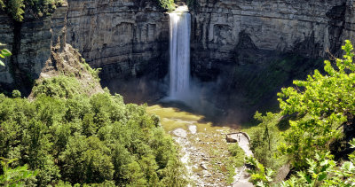
[[[124,105],[108,92],[88,97],[70,81],[56,77],[37,85],[34,101],[0,95],[0,157],[18,159],[11,168],[36,170],[27,184],[186,183],[171,137],[145,105]]]

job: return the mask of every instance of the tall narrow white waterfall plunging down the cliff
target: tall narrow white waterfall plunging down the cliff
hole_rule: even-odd
[[[170,14],[170,98],[182,100],[190,88],[191,16],[187,6]]]

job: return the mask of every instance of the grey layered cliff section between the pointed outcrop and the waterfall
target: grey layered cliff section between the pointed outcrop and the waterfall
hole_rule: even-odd
[[[154,1],[69,0],[67,43],[101,78],[166,74],[169,17]]]

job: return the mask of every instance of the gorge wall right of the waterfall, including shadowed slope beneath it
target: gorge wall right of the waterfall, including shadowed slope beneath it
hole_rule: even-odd
[[[281,87],[321,70],[329,54],[339,57],[344,39],[355,41],[352,0],[195,0],[192,5],[193,76],[218,80],[215,95],[225,100],[222,105],[250,113],[277,104]]]

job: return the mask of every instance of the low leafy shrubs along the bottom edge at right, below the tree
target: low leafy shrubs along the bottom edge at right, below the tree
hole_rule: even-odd
[[[355,140],[352,140],[355,147]],[[308,168],[298,171],[296,175],[281,183],[272,183],[274,171],[264,168],[264,165],[253,158],[248,158],[248,164],[253,166],[248,172],[251,182],[256,186],[353,186],[355,183],[355,154],[350,155],[351,161],[346,161],[341,167],[336,167],[329,152],[316,153],[312,159],[307,159]]]

